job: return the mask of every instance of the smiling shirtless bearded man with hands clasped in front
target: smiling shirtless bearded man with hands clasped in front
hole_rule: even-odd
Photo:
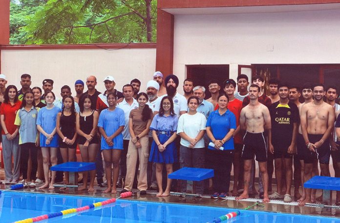
[[[335,112],[333,106],[322,99],[325,95],[322,84],[313,87],[314,101],[305,104],[301,109],[301,130],[308,151],[304,154],[304,182],[312,178],[313,163],[319,159],[322,176],[329,174],[329,136],[334,128]],[[299,205],[311,203],[311,189],[305,188],[306,198]]]

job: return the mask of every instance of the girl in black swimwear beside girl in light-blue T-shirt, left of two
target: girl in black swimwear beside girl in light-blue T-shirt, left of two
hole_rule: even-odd
[[[72,96],[63,98],[63,111],[57,115],[56,130],[59,138],[60,152],[63,162],[74,162],[77,149],[76,115],[74,99]],[[68,184],[68,172],[65,172],[66,184]]]

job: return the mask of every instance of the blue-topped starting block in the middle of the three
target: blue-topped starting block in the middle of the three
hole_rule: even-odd
[[[171,194],[181,195],[183,197],[189,195],[192,196],[192,199],[194,201],[194,197],[198,196],[198,194],[194,194],[194,181],[203,181],[212,178],[213,176],[213,169],[183,167],[177,171],[170,173],[168,177],[170,179],[187,181],[187,193],[171,192]]]

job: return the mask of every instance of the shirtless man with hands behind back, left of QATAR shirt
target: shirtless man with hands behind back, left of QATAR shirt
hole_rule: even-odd
[[[262,173],[263,202],[268,203],[268,173],[267,173],[267,148],[264,131],[271,129],[270,113],[266,106],[258,102],[261,89],[253,84],[249,88],[250,103],[244,107],[240,115],[240,127],[247,130],[243,138],[242,158],[244,160],[244,191],[236,198],[241,200],[249,197],[250,172],[256,155],[259,170]]]

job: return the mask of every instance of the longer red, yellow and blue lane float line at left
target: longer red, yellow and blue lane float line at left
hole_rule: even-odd
[[[128,192],[125,192],[125,193],[121,193],[121,196],[119,198],[127,198],[127,197],[131,197],[131,196],[132,196],[132,192],[128,191]],[[119,199],[119,198],[117,198],[117,199]],[[33,222],[43,221],[43,220],[46,220],[46,219],[55,218],[55,217],[58,217],[58,216],[65,216],[65,215],[68,215],[68,214],[74,214],[74,213],[85,211],[85,210],[88,210],[88,209],[91,209],[91,208],[101,207],[101,206],[104,206],[106,204],[115,203],[117,199],[111,198],[111,199],[108,199],[106,201],[89,204],[89,205],[86,205],[86,206],[83,206],[83,207],[70,208],[70,209],[66,209],[66,210],[51,213],[51,214],[41,215],[41,216],[38,216],[38,217],[35,217],[35,218],[24,219],[24,220],[21,220],[21,221],[17,221],[15,223],[33,223]]]

